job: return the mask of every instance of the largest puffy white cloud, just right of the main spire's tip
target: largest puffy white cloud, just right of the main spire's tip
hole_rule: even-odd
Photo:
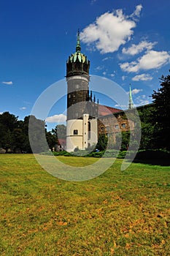
[[[95,44],[95,48],[100,53],[113,53],[120,45],[131,39],[134,34],[133,29],[136,27],[134,17],[139,17],[142,5],[136,7],[132,15],[123,14],[123,10],[115,10],[114,12],[105,12],[96,18],[80,33],[82,42],[90,45]]]

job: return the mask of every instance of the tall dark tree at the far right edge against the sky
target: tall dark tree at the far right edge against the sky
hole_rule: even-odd
[[[161,88],[152,94],[155,103],[154,135],[157,148],[170,150],[170,75],[162,75],[160,79]]]

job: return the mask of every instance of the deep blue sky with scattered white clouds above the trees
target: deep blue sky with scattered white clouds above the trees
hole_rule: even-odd
[[[0,113],[23,119],[48,86],[64,79],[78,28],[90,74],[125,91],[131,83],[135,105],[151,102],[158,78],[169,73],[169,10],[167,0],[1,0]],[[64,110],[66,99],[49,116],[64,118]]]

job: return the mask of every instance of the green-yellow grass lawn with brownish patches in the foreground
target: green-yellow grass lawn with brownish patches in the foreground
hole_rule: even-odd
[[[0,255],[170,255],[170,167],[133,163],[121,171],[121,162],[71,182],[31,154],[1,154]]]

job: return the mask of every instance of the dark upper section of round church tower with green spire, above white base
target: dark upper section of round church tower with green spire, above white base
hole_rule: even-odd
[[[78,31],[76,52],[69,56],[66,63],[67,120],[82,118],[85,111],[89,95],[89,68],[90,61],[81,53]]]

